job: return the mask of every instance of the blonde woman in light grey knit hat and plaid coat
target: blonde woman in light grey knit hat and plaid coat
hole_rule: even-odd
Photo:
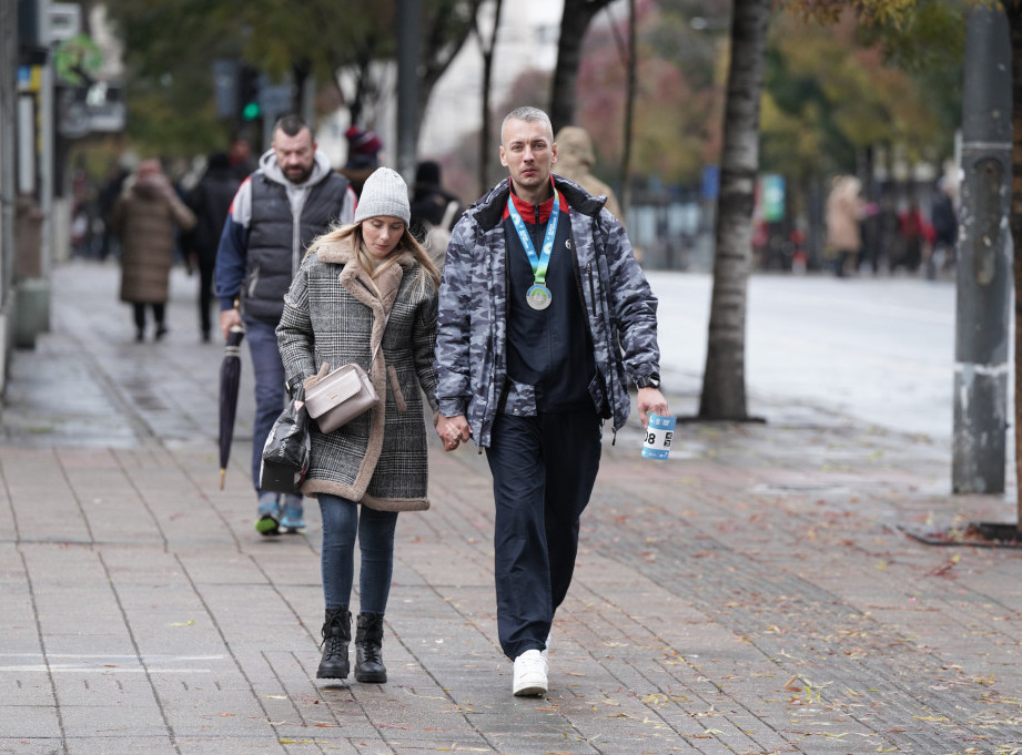
[[[361,365],[381,402],[323,433],[311,427],[302,486],[323,516],[326,615],[317,679],[350,671],[355,540],[362,554],[355,679],[387,681],[381,652],[398,511],[429,507],[422,394],[436,411],[439,274],[408,231],[408,187],[388,167],[365,182],[354,225],[317,238],[291,284],[276,335],[290,385]],[[361,506],[360,506],[361,504]]]

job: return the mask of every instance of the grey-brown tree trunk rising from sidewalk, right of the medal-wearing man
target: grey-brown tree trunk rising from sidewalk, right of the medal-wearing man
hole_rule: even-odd
[[[746,407],[746,293],[759,169],[759,101],[771,0],[735,0],[717,205],[714,293],[701,419],[749,419]]]

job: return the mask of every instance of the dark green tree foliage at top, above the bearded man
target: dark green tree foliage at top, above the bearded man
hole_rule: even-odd
[[[421,114],[470,32],[479,2],[422,3]],[[341,71],[354,82],[350,91],[340,92],[353,120],[393,93],[376,63],[395,54],[394,0],[110,0],[108,6],[124,41],[130,133],[142,141],[160,139],[164,147],[184,150],[201,126],[223,144],[230,124],[209,118],[217,58],[244,60],[276,82],[294,84],[295,109],[310,76],[338,86]],[[196,114],[199,123],[192,120]]]

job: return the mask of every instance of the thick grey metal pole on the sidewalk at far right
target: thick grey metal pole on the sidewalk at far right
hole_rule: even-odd
[[[965,37],[962,208],[954,346],[955,493],[1004,491],[1011,325],[1011,47],[1000,6],[974,6]]]

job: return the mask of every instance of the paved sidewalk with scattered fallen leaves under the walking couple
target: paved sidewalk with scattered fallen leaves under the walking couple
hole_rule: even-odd
[[[198,284],[175,271],[171,335],[136,344],[117,282],[59,268],[53,331],[11,369],[0,753],[1022,752],[1022,551],[897,530],[1013,521],[1011,498],[950,497],[925,438],[763,402],[766,425],[682,426],[667,462],[608,433],[543,700],[496,645],[485,459],[436,445],[434,507],[397,531],[391,681],[317,683],[318,513],[252,529],[251,375],[220,491]]]

